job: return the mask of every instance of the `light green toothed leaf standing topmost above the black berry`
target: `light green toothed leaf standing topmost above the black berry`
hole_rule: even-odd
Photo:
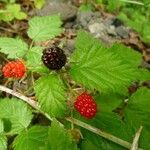
[[[29,21],[28,35],[34,41],[46,41],[61,34],[60,16],[34,17]]]

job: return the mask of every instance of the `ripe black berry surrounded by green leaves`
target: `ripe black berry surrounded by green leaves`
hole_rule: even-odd
[[[61,69],[66,63],[66,55],[59,47],[46,48],[43,51],[42,61],[45,66],[52,70]]]

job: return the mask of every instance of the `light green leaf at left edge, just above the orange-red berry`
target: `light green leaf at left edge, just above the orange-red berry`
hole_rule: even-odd
[[[21,39],[0,38],[0,52],[8,54],[8,58],[21,58],[28,50],[28,45]]]

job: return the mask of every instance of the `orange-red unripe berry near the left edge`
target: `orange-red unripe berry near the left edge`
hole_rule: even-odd
[[[10,61],[2,68],[6,78],[22,78],[26,72],[26,67],[21,60]]]

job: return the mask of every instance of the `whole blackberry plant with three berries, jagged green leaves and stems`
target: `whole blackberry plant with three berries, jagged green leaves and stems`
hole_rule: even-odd
[[[122,44],[106,47],[80,30],[67,59],[62,47],[41,44],[60,35],[61,25],[58,15],[32,18],[29,45],[0,37],[0,52],[10,61],[2,74],[12,79],[0,85],[0,149],[149,150],[150,90],[142,83],[150,78],[139,67],[141,54]],[[14,88],[28,77],[25,91]],[[131,95],[134,82],[140,86]]]

